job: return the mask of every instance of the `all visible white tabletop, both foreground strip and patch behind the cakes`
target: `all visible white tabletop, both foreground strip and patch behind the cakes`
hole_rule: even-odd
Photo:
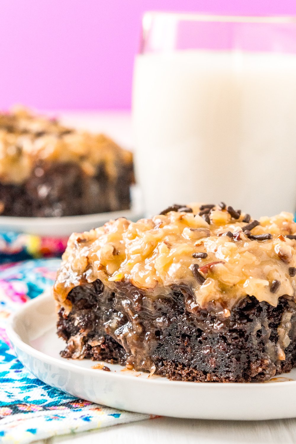
[[[57,113],[64,124],[104,132],[133,149],[130,113]],[[213,400],[215,402],[215,400]],[[241,400],[244,402],[244,400]],[[55,436],[35,444],[288,444],[296,443],[296,419],[213,421],[157,418],[75,435]]]

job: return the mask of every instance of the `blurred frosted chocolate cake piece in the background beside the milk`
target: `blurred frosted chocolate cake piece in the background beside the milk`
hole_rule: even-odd
[[[130,208],[133,159],[105,135],[20,108],[0,114],[0,215],[71,216]]]

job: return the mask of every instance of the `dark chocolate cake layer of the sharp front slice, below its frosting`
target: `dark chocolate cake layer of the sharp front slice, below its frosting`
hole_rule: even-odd
[[[61,355],[127,364],[178,381],[265,381],[295,365],[293,302],[280,298],[272,307],[245,297],[224,318],[191,313],[192,297],[176,288],[151,303],[132,286],[110,292],[97,280],[75,287],[70,313],[59,310],[58,334],[67,341]]]

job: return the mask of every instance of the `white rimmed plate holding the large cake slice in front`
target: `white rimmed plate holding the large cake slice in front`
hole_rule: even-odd
[[[92,369],[94,361],[59,357],[65,343],[56,336],[55,321],[55,302],[45,294],[12,317],[8,337],[20,361],[36,377],[71,395],[114,408],[182,418],[296,417],[296,370],[276,382],[255,384],[169,381],[110,364],[106,365],[111,372],[106,372]]]

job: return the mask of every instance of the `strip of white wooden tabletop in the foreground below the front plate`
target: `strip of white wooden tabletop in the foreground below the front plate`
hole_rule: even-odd
[[[206,421],[157,418],[59,436],[38,444],[290,444],[296,420]]]

